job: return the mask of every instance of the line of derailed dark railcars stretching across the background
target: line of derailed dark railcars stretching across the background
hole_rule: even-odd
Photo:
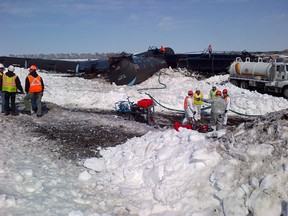
[[[170,47],[160,49],[152,46],[147,51],[138,54],[120,53],[107,57],[105,60],[64,61],[35,58],[19,58],[1,56],[4,66],[14,65],[28,68],[37,65],[40,70],[59,73],[93,74],[108,77],[116,85],[136,85],[151,77],[162,68],[186,68],[188,70],[205,72],[211,75],[228,73],[228,68],[236,58],[243,61],[256,57],[243,52],[212,52],[204,50],[201,53],[175,54]]]

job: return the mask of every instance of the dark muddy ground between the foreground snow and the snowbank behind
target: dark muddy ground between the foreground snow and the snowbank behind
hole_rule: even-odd
[[[57,152],[59,159],[76,160],[86,157],[99,157],[99,147],[112,147],[124,143],[130,138],[139,137],[148,131],[173,128],[174,122],[181,122],[183,114],[155,113],[155,125],[129,120],[129,114],[96,109],[69,109],[52,103],[44,103],[44,115],[37,118],[21,114],[12,116],[22,127],[27,128],[32,137],[52,143],[49,148]],[[3,115],[3,114],[2,114]],[[2,116],[2,118],[8,118]],[[233,130],[242,122],[252,119],[239,116],[230,117],[227,130]],[[209,123],[209,116],[203,116],[201,123]]]

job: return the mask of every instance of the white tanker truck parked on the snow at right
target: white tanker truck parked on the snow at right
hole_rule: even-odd
[[[288,98],[288,63],[281,59],[251,62],[250,58],[236,60],[229,67],[229,81],[243,89],[281,94]]]

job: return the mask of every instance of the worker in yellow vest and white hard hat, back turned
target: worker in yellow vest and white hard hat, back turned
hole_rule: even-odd
[[[15,103],[17,89],[19,89],[21,93],[24,93],[20,79],[14,73],[14,70],[14,66],[10,65],[8,67],[8,71],[3,74],[3,78],[0,81],[2,92],[4,93],[5,98],[5,115],[18,115],[18,113],[16,112]],[[10,101],[11,107],[9,106]]]

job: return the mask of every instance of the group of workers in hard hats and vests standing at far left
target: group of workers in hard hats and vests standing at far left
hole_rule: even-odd
[[[31,65],[29,74],[25,79],[24,114],[31,115],[36,112],[37,117],[42,116],[42,96],[44,82],[36,72],[37,66]],[[2,113],[4,115],[18,115],[16,109],[16,93],[24,94],[19,77],[14,73],[15,67],[10,65],[5,73],[5,67],[0,63],[0,96],[2,98]],[[19,92],[17,92],[19,90]]]

